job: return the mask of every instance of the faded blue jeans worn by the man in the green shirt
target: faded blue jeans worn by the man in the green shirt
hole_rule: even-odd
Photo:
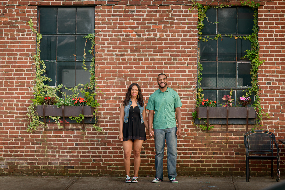
[[[168,178],[176,177],[177,136],[176,126],[167,129],[153,129],[155,147],[155,177],[163,179],[163,155],[166,140]]]

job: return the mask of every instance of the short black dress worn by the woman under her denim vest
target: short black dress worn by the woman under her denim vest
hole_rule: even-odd
[[[130,107],[128,123],[123,125],[123,141],[146,140],[144,123],[141,123],[141,112],[138,106]]]

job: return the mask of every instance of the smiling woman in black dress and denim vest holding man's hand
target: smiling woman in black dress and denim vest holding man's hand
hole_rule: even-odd
[[[119,140],[123,142],[126,183],[137,183],[141,164],[141,148],[146,140],[145,129],[148,122],[145,117],[145,103],[141,87],[133,83],[129,86],[126,98],[121,105]],[[134,147],[134,177],[131,179],[130,166],[132,147]]]

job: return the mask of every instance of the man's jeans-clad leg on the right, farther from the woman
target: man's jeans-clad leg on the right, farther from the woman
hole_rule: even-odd
[[[176,160],[177,160],[177,136],[176,127],[168,128],[165,134],[167,148],[167,173],[168,178],[176,177]]]

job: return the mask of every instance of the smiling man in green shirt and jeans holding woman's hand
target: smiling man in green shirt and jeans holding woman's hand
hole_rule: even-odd
[[[167,87],[167,77],[161,73],[157,77],[159,89],[148,99],[146,109],[148,112],[148,131],[150,138],[154,137],[155,147],[155,178],[153,183],[163,179],[163,155],[166,140],[167,148],[167,173],[171,183],[178,183],[176,179],[177,137],[181,136],[181,111],[182,106],[179,95]],[[176,128],[176,119],[178,129]],[[155,113],[155,114],[154,114]],[[153,126],[153,130],[152,130]]]

